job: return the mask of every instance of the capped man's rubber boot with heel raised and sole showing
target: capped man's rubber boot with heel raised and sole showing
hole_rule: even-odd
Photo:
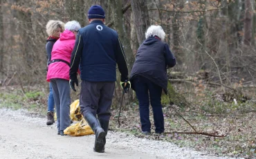
[[[84,119],[88,122],[91,129],[93,129],[93,132],[95,133],[94,151],[102,153],[106,133],[100,127],[99,120],[91,112],[84,114]]]

